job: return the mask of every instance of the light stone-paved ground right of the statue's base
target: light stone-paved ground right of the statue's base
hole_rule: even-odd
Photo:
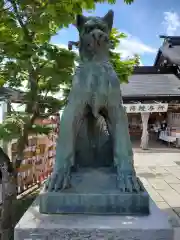
[[[154,149],[155,150],[155,149]],[[138,176],[159,208],[169,214],[180,239],[180,152],[134,149]]]

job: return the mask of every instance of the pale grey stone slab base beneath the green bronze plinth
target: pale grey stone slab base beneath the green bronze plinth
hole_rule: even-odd
[[[150,201],[149,216],[39,213],[39,198],[15,227],[14,240],[173,240],[166,213]]]

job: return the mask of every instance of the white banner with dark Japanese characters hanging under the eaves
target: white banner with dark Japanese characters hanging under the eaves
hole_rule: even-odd
[[[142,113],[142,112],[167,112],[168,103],[156,104],[123,104],[127,113]]]

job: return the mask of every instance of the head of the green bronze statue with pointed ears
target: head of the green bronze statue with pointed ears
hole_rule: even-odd
[[[109,36],[114,13],[110,10],[104,17],[76,17],[79,31],[79,52],[82,60],[104,60],[108,58]]]

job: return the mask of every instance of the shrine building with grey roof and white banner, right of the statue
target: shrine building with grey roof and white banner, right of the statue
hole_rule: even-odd
[[[143,149],[148,148],[150,125],[158,121],[168,126],[161,140],[178,146],[180,138],[180,37],[161,37],[154,66],[135,67],[129,83],[121,85],[131,137],[141,139]]]

